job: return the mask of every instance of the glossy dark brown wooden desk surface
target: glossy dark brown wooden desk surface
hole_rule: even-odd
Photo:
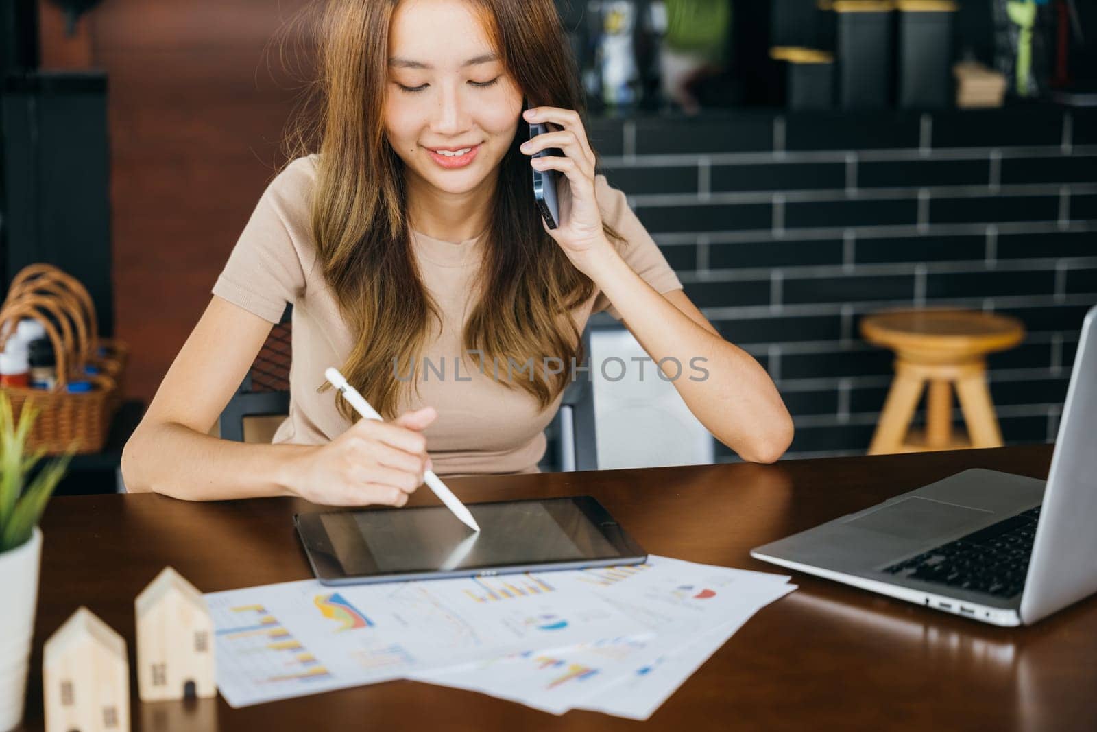
[[[464,500],[591,494],[654,554],[778,571],[751,547],[966,468],[1045,477],[1051,446],[905,455],[467,477]],[[412,503],[432,503],[420,489]],[[289,498],[197,504],[158,495],[60,497],[43,520],[42,581],[25,729],[42,728],[42,644],[87,605],[135,655],[136,594],[166,564],[203,592],[310,575]],[[1097,599],[1029,629],[1002,629],[794,575],[647,722],[651,729],[1097,729]],[[132,682],[133,684],[133,682]],[[132,687],[136,689],[134,685]],[[231,709],[219,698],[134,701],[133,729],[631,728],[593,712],[553,717],[412,682]],[[341,724],[340,724],[341,722]],[[183,723],[185,727],[180,727]]]

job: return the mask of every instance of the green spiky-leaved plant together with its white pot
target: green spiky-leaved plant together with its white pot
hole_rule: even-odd
[[[24,454],[38,410],[30,399],[14,424],[0,392],[0,730],[23,718],[26,672],[38,598],[42,530],[38,518],[72,459],[69,452],[31,473],[45,449]]]

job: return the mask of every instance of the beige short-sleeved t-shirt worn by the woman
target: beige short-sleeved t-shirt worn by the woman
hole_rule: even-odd
[[[286,303],[293,304],[290,414],[274,433],[275,443],[320,444],[351,426],[336,409],[332,390],[316,392],[325,383],[324,370],[346,361],[354,335],[340,316],[316,261],[308,211],[315,181],[314,154],[291,162],[270,183],[213,286],[213,294],[271,323],[281,319]],[[657,292],[681,288],[675,271],[629,209],[624,193],[611,188],[600,174],[596,195],[603,219],[627,239],[622,254],[632,269]],[[471,279],[483,256],[483,239],[450,243],[419,232],[412,232],[411,239],[423,283],[442,311],[443,327],[417,361],[422,371],[418,398],[408,384],[397,414],[428,405],[438,410],[423,436],[439,475],[539,472],[536,465],[546,444],[544,429],[563,394],[542,410],[528,392],[495,382],[490,364],[486,373],[480,373],[471,368],[466,358],[460,374],[454,373],[454,364],[464,352],[461,335],[465,319],[475,305],[470,302],[474,290]],[[609,300],[596,292],[575,312],[579,328],[591,313],[602,309],[621,319]],[[425,359],[436,368],[444,368],[444,379],[425,369]],[[502,361],[499,373],[506,380]],[[576,378],[584,375],[580,372]],[[513,379],[529,376],[516,371]]]

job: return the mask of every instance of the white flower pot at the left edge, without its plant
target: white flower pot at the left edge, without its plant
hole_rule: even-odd
[[[21,547],[0,553],[0,730],[23,719],[41,559],[38,527]]]

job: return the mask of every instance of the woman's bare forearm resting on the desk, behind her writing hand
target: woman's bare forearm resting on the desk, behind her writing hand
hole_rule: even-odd
[[[184,500],[291,496],[289,468],[312,449],[223,440],[178,423],[140,425],[122,450],[122,480],[129,493]]]

